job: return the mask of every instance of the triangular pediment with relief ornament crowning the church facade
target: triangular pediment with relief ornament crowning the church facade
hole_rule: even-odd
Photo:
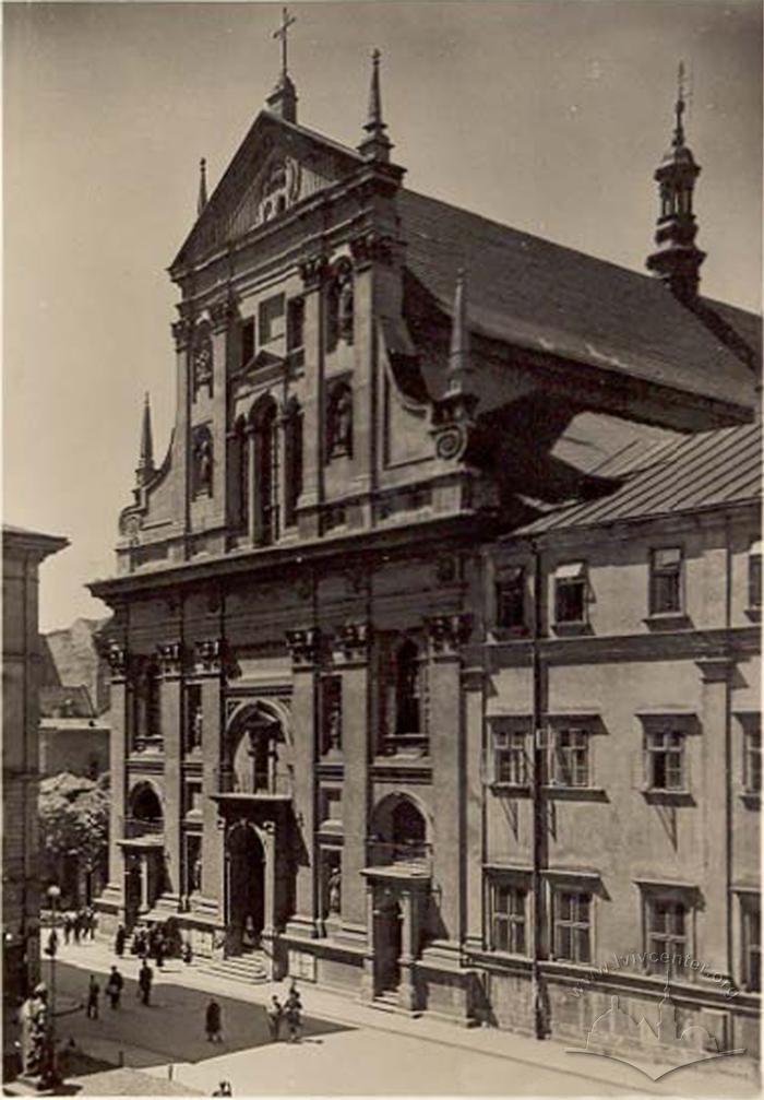
[[[348,175],[362,157],[261,111],[170,266],[178,274]]]

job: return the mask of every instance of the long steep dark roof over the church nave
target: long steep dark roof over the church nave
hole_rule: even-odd
[[[401,190],[407,267],[446,312],[461,266],[470,328],[520,346],[724,403],[753,404],[755,371],[710,324],[761,360],[762,319],[701,300],[704,323],[657,279]],[[645,249],[649,242],[645,242]]]

